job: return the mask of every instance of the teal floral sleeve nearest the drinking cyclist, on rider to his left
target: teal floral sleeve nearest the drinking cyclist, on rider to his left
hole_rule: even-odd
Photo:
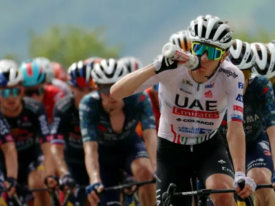
[[[139,104],[142,108],[142,115],[140,119],[142,130],[155,129],[155,115],[153,113],[152,103],[145,91],[140,93]]]

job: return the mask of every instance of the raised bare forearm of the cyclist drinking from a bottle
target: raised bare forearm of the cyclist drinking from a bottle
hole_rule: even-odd
[[[142,83],[154,75],[155,67],[153,64],[129,73],[111,87],[111,96],[113,98],[122,99],[132,95]]]

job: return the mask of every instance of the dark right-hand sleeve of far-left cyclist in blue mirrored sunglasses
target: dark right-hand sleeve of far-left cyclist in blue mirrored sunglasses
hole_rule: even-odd
[[[40,103],[39,103],[40,104]],[[45,142],[50,142],[52,140],[52,135],[50,133],[50,124],[47,119],[47,113],[43,104],[39,105],[37,111],[37,129],[39,135],[39,142],[43,144]]]

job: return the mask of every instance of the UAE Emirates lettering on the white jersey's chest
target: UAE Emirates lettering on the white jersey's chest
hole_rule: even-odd
[[[204,102],[204,101],[203,101]],[[176,95],[175,105],[173,106],[173,114],[188,117],[201,117],[207,119],[218,119],[219,111],[217,111],[217,101],[205,100],[205,104],[201,104],[199,100],[193,100],[190,104],[189,98],[179,100],[179,94]],[[185,109],[190,108],[190,109]],[[192,110],[192,108],[194,110]],[[200,111],[198,111],[198,109]]]

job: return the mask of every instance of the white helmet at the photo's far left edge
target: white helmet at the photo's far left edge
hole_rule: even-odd
[[[23,81],[17,62],[14,60],[0,60],[0,86],[13,87]]]

